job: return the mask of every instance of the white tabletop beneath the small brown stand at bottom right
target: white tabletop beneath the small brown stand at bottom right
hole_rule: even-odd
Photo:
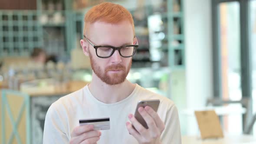
[[[256,137],[252,135],[238,135],[202,140],[199,136],[182,136],[182,144],[256,144]]]

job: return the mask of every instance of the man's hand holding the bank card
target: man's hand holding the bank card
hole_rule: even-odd
[[[96,144],[100,139],[101,132],[93,130],[93,125],[82,125],[76,127],[69,144]]]

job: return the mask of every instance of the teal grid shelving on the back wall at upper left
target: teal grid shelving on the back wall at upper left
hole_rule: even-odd
[[[42,33],[36,10],[0,12],[0,55],[23,56],[25,49],[42,46]]]

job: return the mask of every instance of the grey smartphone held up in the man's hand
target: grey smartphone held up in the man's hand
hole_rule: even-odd
[[[134,117],[137,119],[137,121],[139,123],[141,123],[141,125],[144,126],[144,128],[148,129],[148,125],[147,125],[146,121],[144,120],[144,118],[139,113],[138,108],[140,108],[140,107],[145,108],[146,106],[150,106],[151,108],[153,108],[154,111],[157,112],[159,104],[160,104],[160,100],[159,99],[138,101]]]

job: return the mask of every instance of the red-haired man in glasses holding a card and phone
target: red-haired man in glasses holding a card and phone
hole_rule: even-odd
[[[138,47],[131,13],[113,3],[92,7],[85,15],[84,39],[80,43],[90,58],[92,82],[51,105],[43,143],[181,144],[174,103],[126,79]],[[138,110],[148,129],[132,115],[142,99],[161,101],[157,112],[149,106]],[[79,119],[105,117],[110,118],[110,130],[79,126]]]

